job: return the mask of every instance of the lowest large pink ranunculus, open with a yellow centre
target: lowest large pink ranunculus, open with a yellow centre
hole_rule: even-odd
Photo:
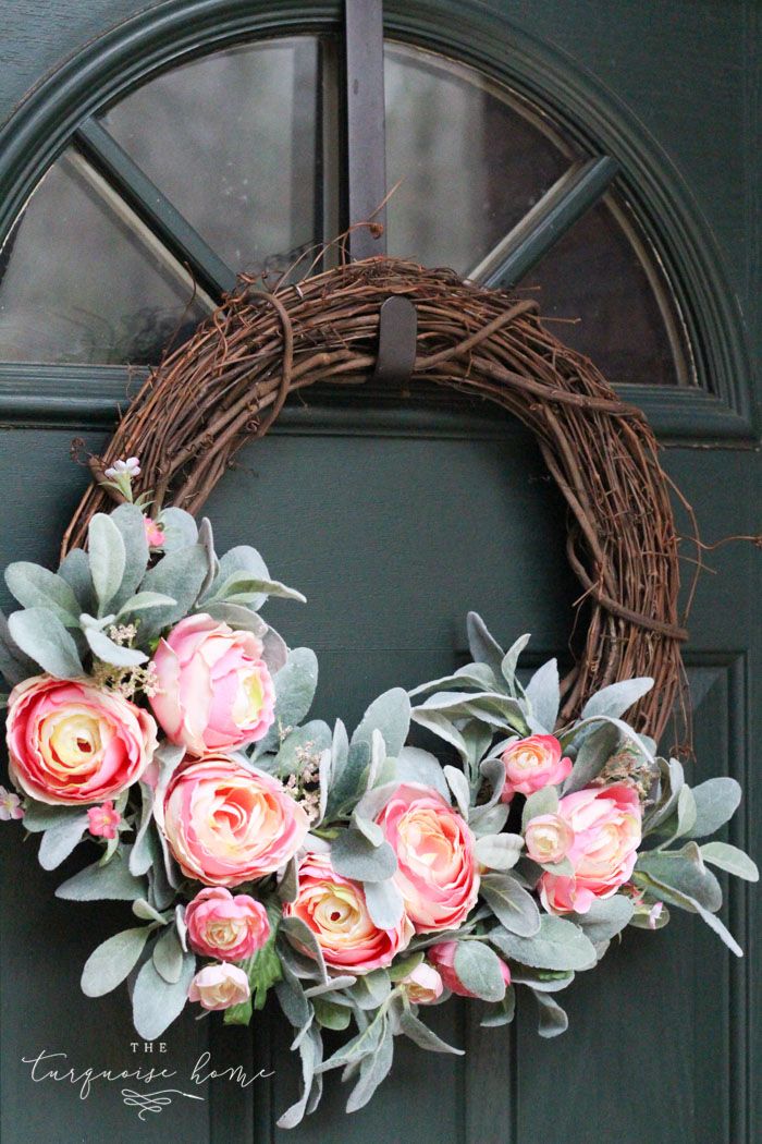
[[[302,859],[299,892],[295,901],[283,906],[283,916],[299,917],[315,935],[326,964],[350,974],[390,966],[414,935],[404,913],[393,929],[379,929],[370,917],[360,882],[336,874],[329,855],[323,853],[307,853]]]

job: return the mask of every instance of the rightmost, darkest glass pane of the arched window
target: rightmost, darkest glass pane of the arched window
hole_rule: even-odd
[[[592,358],[608,381],[687,383],[688,367],[664,284],[605,202],[577,222],[521,283],[548,328]],[[571,319],[571,320],[569,320]]]

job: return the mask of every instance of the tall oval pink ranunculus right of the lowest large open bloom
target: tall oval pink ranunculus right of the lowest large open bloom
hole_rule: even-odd
[[[479,896],[474,836],[436,791],[402,782],[377,815],[398,860],[394,881],[418,932],[455,929]]]

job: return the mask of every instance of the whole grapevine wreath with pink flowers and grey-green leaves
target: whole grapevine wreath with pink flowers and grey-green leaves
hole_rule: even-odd
[[[195,517],[290,392],[374,373],[390,296],[415,307],[410,391],[462,390],[534,432],[569,508],[586,637],[566,678],[551,661],[523,686],[528,637],[504,651],[472,613],[468,664],[387,691],[347,733],[310,720],[315,656],[259,614],[303,597],[247,545],[218,556]],[[240,1024],[272,990],[302,1058],[291,1127],[329,1070],[352,1082],[348,1111],[366,1104],[395,1036],[458,1052],[426,1023],[451,993],[500,1025],[523,987],[540,1035],[563,1032],[558,993],[671,907],[740,955],[712,867],[756,868],[703,841],[738,784],[691,788],[657,752],[685,631],[656,440],[534,302],[387,259],[272,292],[242,276],[91,468],[58,571],[7,569],[21,610],[0,639],[16,792],[0,815],[40,835],[46,869],[102,848],[59,898],[131,903],[83,968],[88,996],[128,980],[152,1040],[189,1000]],[[443,762],[407,745],[411,722]],[[346,1031],[328,1058],[326,1028]]]

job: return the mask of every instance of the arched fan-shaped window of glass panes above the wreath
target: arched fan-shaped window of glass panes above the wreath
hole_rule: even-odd
[[[339,57],[330,33],[260,39],[149,76],[99,109],[7,238],[0,360],[154,363],[234,272],[276,278],[335,238]],[[589,150],[507,82],[409,42],[386,41],[385,87],[388,253],[498,284],[505,251],[554,196],[563,208]],[[612,382],[696,384],[659,255],[607,184],[572,225],[561,209],[558,241],[515,287]]]

